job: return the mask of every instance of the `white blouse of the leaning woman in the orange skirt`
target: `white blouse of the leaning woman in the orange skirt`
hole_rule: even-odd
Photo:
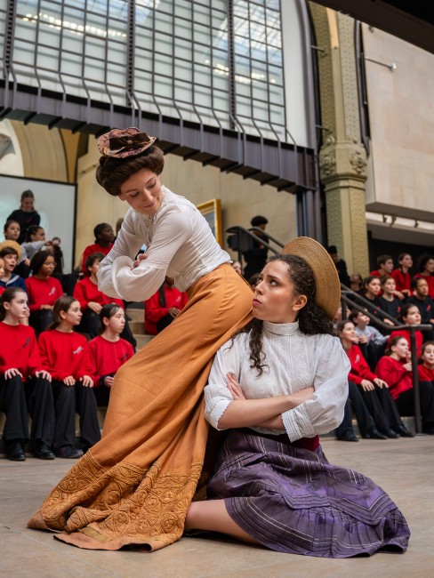
[[[110,297],[144,301],[163,285],[165,276],[186,291],[197,279],[230,260],[196,206],[162,187],[157,213],[145,215],[132,207],[125,215],[115,245],[100,262],[98,286]],[[149,257],[131,269],[141,245]]]

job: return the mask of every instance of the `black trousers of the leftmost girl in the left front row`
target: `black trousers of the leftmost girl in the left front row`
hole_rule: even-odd
[[[30,446],[42,441],[52,445],[54,406],[50,381],[41,377],[23,382],[19,375],[6,380],[0,378],[0,410],[6,413],[3,439],[30,439]],[[28,435],[28,413],[32,418]]]

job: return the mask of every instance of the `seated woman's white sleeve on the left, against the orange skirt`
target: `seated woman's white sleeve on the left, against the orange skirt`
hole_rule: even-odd
[[[213,428],[219,429],[219,421],[226,408],[233,401],[232,394],[226,387],[226,375],[235,373],[237,380],[240,376],[239,342],[237,338],[221,346],[213,360],[208,385],[205,386],[205,420]]]

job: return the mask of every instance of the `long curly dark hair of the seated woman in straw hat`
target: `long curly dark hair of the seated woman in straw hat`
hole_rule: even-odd
[[[288,269],[288,277],[293,283],[294,293],[296,295],[305,295],[307,298],[306,305],[300,310],[298,315],[299,329],[306,335],[317,335],[325,333],[335,335],[334,325],[325,315],[323,309],[320,309],[315,302],[315,293],[317,287],[315,277],[309,265],[296,255],[277,255],[269,261],[282,261]],[[258,377],[263,373],[263,368],[267,366],[264,363],[265,353],[262,351],[262,321],[253,319],[245,325],[238,333],[250,333],[250,360],[252,368],[258,370]]]

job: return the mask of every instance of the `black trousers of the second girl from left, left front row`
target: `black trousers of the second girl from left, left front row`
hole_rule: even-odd
[[[100,425],[93,388],[85,388],[81,381],[76,381],[75,385],[52,381],[52,394],[56,413],[53,449],[76,445],[76,413],[80,416],[83,445],[91,447],[100,441]]]

